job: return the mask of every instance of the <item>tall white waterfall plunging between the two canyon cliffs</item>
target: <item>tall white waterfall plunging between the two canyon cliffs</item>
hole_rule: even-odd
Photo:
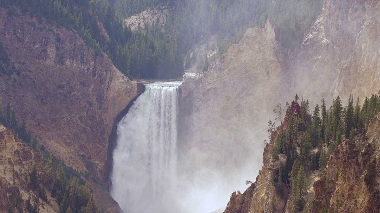
[[[176,212],[178,85],[147,85],[117,126],[110,192],[125,213]]]

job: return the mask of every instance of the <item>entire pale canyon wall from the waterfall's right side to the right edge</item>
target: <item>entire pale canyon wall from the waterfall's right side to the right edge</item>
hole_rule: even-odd
[[[325,0],[295,55],[277,42],[271,22],[247,30],[239,44],[231,45],[203,77],[185,79],[182,84],[182,149],[190,150],[187,154],[203,166],[217,170],[222,176],[219,180],[231,183],[234,177],[244,183],[259,170],[266,124],[275,117],[271,109],[278,103],[284,105],[296,93],[313,100],[312,106],[322,97],[330,104],[339,95],[346,103],[352,93],[362,102],[377,93],[379,7],[380,1]],[[246,196],[237,194],[235,203],[246,203],[242,201]]]

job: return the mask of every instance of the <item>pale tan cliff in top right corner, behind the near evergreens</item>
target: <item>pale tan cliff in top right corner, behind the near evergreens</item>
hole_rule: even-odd
[[[379,11],[380,1],[324,1],[294,63],[299,94],[347,102],[378,92]]]

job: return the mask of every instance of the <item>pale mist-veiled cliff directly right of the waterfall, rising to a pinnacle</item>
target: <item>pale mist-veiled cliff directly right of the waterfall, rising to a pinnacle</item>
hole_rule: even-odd
[[[210,169],[229,183],[248,164],[258,171],[261,159],[252,157],[261,155],[261,122],[285,100],[275,91],[287,91],[292,83],[275,31],[269,20],[250,28],[203,77],[186,78],[180,86],[179,149],[183,159],[193,159],[181,162],[186,171],[212,179]]]

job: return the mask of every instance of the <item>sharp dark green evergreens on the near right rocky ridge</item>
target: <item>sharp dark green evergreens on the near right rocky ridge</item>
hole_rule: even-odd
[[[315,170],[322,172],[328,157],[342,141],[355,141],[359,134],[366,135],[370,119],[380,112],[380,91],[366,97],[363,106],[359,105],[359,97],[354,102],[351,96],[343,107],[338,96],[330,107],[322,98],[321,105],[315,105],[312,111],[309,100],[302,99],[299,105],[296,95],[286,108],[288,116],[276,132],[274,123],[268,122],[269,138],[275,138],[271,146],[272,158],[278,160],[279,154],[284,154],[287,159],[285,166],[275,172],[273,182],[280,194],[290,193],[293,210],[298,212],[307,207],[309,181],[306,174]],[[279,119],[282,110],[280,107],[274,110]],[[321,211],[327,212],[326,209]]]

